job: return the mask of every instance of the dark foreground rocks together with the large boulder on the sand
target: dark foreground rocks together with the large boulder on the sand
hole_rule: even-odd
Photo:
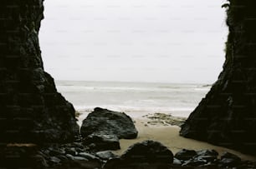
[[[155,116],[154,119],[164,115]],[[0,168],[256,168],[256,162],[243,161],[229,152],[219,155],[214,150],[182,149],[173,154],[161,142],[152,140],[137,142],[120,156],[110,151],[120,149],[120,138],[137,135],[131,117],[124,112],[96,107],[84,119],[75,142],[2,145]]]

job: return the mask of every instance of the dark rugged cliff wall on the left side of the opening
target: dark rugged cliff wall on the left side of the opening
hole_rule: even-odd
[[[43,0],[0,4],[0,142],[68,142],[79,133],[74,107],[41,58]]]

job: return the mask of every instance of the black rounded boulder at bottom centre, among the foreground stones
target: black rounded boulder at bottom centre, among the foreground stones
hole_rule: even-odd
[[[119,158],[110,159],[104,168],[144,167],[166,168],[173,162],[172,152],[160,142],[144,141],[129,147]],[[143,164],[141,166],[141,164]]]

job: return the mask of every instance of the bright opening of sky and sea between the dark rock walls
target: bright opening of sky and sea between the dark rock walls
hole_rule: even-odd
[[[44,68],[78,110],[143,109],[188,117],[222,70],[228,34],[222,4],[223,0],[44,2],[39,32]],[[177,85],[168,87],[170,83]],[[180,83],[191,88],[164,90]],[[150,94],[138,94],[141,87]],[[125,92],[133,94],[125,98]],[[170,97],[173,92],[181,93],[179,104]]]

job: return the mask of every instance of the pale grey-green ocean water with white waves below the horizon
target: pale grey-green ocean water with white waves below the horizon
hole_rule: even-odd
[[[57,81],[58,91],[84,116],[95,107],[141,117],[155,112],[188,117],[210,90],[206,84]]]

